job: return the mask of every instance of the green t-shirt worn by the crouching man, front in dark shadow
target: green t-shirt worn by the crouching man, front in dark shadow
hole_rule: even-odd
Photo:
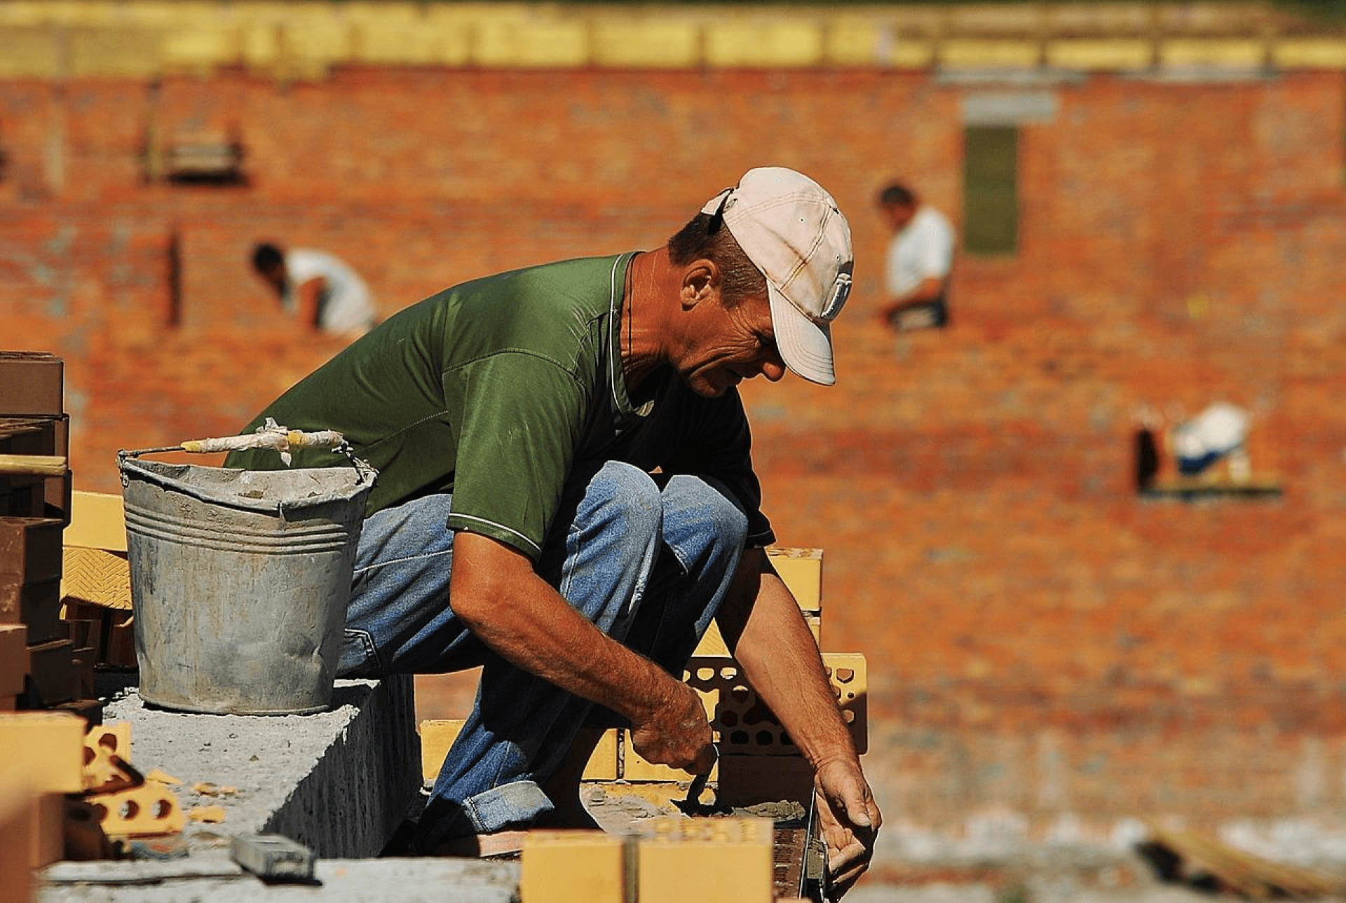
[[[750,545],[770,544],[736,390],[704,398],[665,367],[650,377],[651,402],[631,408],[618,339],[633,256],[546,264],[433,295],[346,347],[242,432],[267,417],[336,429],[378,470],[366,515],[452,493],[448,529],[533,560],[567,474],[584,462],[712,476],[748,511]],[[300,449],[293,466],[338,462]],[[225,463],[284,467],[273,451]]]

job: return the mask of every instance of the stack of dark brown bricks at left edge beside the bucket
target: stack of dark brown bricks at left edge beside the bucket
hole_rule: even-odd
[[[61,618],[70,518],[61,358],[0,353],[0,709],[61,708],[101,721],[87,633]]]

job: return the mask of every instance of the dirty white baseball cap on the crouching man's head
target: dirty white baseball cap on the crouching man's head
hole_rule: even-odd
[[[851,293],[851,226],[822,186],[794,170],[748,170],[701,213],[724,217],[730,234],[766,276],[775,343],[785,365],[830,386],[830,323]]]

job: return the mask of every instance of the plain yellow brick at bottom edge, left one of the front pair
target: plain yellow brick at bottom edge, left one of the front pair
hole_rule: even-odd
[[[524,840],[522,903],[622,903],[622,840],[602,830],[533,830]]]

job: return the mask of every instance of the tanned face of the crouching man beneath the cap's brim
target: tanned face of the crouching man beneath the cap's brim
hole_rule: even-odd
[[[693,392],[717,398],[744,380],[763,375],[777,382],[785,375],[766,296],[730,308],[716,296],[693,314],[699,320],[678,362],[678,373]]]

